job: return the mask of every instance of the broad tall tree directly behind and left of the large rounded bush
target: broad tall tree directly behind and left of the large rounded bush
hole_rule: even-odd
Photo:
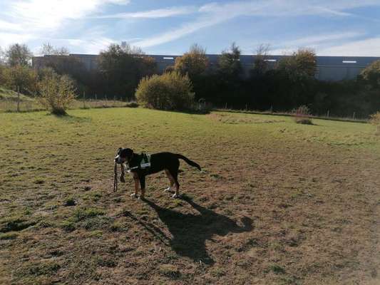
[[[145,56],[140,48],[127,43],[111,44],[101,52],[98,65],[106,93],[127,98],[133,97],[141,78],[157,73],[155,60]]]

